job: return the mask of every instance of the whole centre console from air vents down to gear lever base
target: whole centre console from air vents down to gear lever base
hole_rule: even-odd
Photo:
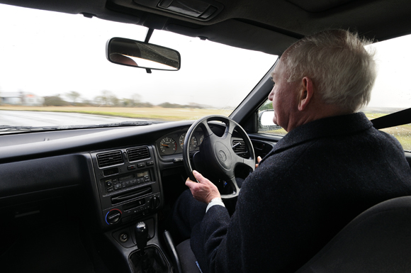
[[[123,264],[125,272],[174,271],[157,234],[163,198],[154,149],[139,145],[91,152],[95,204],[108,242],[101,252],[112,249],[103,256],[116,270]],[[142,235],[135,231],[136,225],[144,226]]]

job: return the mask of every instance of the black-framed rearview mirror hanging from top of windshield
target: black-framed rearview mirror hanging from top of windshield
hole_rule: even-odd
[[[180,53],[171,48],[125,38],[111,38],[106,45],[107,59],[118,65],[145,69],[180,69]]]

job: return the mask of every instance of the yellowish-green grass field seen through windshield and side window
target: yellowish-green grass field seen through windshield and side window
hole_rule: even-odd
[[[197,109],[197,108],[122,108],[122,107],[75,107],[75,106],[0,106],[0,110],[17,110],[17,111],[50,111],[50,112],[71,112],[71,113],[89,113],[102,116],[121,116],[125,118],[142,118],[157,121],[182,121],[196,120],[208,115],[228,116],[232,109]],[[366,113],[369,119],[385,116],[386,113]],[[382,129],[390,133],[400,141],[404,150],[411,150],[411,124],[396,126]],[[283,129],[264,132],[285,135]]]

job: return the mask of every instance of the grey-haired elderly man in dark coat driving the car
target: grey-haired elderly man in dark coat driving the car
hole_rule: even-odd
[[[294,272],[366,208],[411,194],[402,147],[357,113],[375,77],[373,55],[344,30],[284,52],[269,99],[288,134],[244,181],[235,213],[196,171],[181,196],[190,206],[177,205],[204,273]]]

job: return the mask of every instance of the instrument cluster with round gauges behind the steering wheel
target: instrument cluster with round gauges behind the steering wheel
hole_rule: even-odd
[[[160,155],[174,155],[183,152],[184,139],[188,129],[178,130],[174,133],[163,135],[156,141]],[[204,139],[203,131],[196,130],[190,140],[190,151],[198,150]]]

